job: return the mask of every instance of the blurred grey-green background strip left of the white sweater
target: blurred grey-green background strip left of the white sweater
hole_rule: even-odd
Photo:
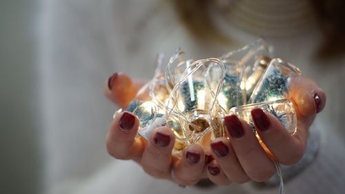
[[[0,1],[0,193],[41,193],[37,0]]]

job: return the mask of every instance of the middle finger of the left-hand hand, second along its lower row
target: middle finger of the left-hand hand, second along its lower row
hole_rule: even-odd
[[[141,159],[144,171],[153,177],[170,179],[171,152],[174,144],[175,137],[170,128],[156,128],[150,135]]]

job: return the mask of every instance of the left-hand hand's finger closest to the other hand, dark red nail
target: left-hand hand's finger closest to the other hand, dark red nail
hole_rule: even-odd
[[[204,149],[199,144],[190,144],[182,155],[182,159],[174,165],[175,182],[184,186],[196,184],[204,171]]]

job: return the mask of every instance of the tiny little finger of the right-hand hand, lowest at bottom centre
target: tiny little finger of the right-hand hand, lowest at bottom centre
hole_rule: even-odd
[[[231,184],[231,181],[228,179],[228,177],[224,174],[224,172],[221,170],[221,167],[219,164],[217,164],[217,161],[213,160],[208,164],[207,166],[207,173],[208,178],[211,182],[218,184],[218,185],[228,185]]]

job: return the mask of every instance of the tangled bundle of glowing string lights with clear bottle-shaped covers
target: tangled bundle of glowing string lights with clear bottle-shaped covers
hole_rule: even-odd
[[[297,117],[289,92],[298,68],[271,56],[271,48],[261,39],[218,58],[184,59],[177,50],[163,67],[157,58],[155,75],[126,109],[139,119],[138,135],[148,139],[159,126],[168,126],[175,135],[172,154],[181,157],[188,144],[208,147],[217,137],[226,137],[224,117],[237,115],[254,133],[250,111],[262,108],[277,117],[290,134]],[[118,110],[121,113],[123,110]],[[257,135],[257,134],[256,134]],[[274,156],[257,135],[262,147]],[[280,166],[275,162],[284,193]]]

